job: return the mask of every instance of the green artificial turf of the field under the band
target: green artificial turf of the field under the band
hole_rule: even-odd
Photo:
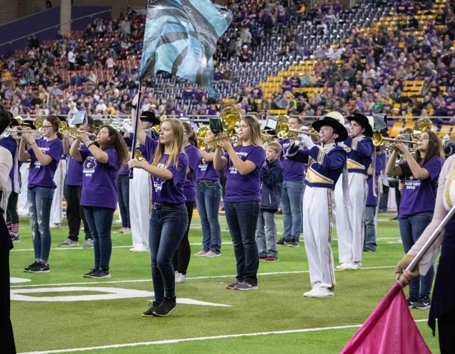
[[[229,336],[287,330],[323,329],[362,324],[394,283],[394,265],[402,257],[398,222],[389,221],[392,214],[380,214],[378,251],[363,252],[363,269],[336,271],[335,297],[303,297],[310,289],[308,262],[303,247],[278,247],[278,262],[260,262],[258,290],[234,291],[225,285],[234,280],[236,262],[224,217],[220,217],[222,255],[215,258],[191,257],[184,284],[176,284],[180,299],[224,304],[208,306],[178,304],[168,318],[143,318],[153,297],[93,301],[18,301],[13,300],[11,318],[18,352],[66,348],[96,347],[113,344],[156,342],[161,340]],[[277,215],[277,228],[283,231],[282,216]],[[113,230],[119,229],[114,224]],[[93,250],[59,248],[67,237],[66,220],[60,229],[52,229],[51,273],[31,274],[22,269],[33,262],[33,246],[28,218],[21,217],[20,239],[10,253],[11,276],[31,279],[28,283],[11,284],[12,289],[46,287],[115,287],[153,291],[150,254],[130,252],[131,235],[113,234],[110,279],[87,279],[83,273],[93,268]],[[279,234],[279,238],[281,234]],[[83,232],[81,235],[83,237]],[[335,237],[336,238],[336,237]],[[201,249],[199,217],[194,216],[190,230],[192,254]],[[82,242],[80,245],[82,246]],[[23,250],[23,251],[21,251]],[[336,240],[333,242],[335,264],[338,264]],[[372,268],[372,269],[369,269]],[[123,281],[116,283],[117,281]],[[42,286],[34,286],[42,285]],[[89,289],[27,296],[96,295]],[[407,289],[405,289],[407,295]],[[428,309],[413,309],[416,320],[428,318]],[[417,325],[430,349],[438,351],[437,339],[426,322]],[[31,330],[32,329],[32,330]],[[298,333],[262,334],[230,338],[206,338],[178,343],[159,343],[132,347],[92,350],[106,353],[142,352],[339,352],[358,328],[324,329]]]

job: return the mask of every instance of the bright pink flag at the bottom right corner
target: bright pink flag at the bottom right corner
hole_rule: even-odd
[[[341,353],[431,354],[398,283],[389,290]]]

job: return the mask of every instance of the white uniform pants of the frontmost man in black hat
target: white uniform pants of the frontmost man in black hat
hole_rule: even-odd
[[[332,216],[335,200],[330,188],[305,187],[303,194],[303,239],[311,287],[335,289],[332,253]]]

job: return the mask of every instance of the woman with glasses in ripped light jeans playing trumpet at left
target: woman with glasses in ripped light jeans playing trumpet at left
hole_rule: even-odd
[[[49,219],[56,185],[53,181],[58,162],[63,154],[63,144],[59,139],[60,119],[48,115],[42,121],[43,137],[35,141],[29,132],[23,132],[19,145],[19,161],[30,162],[28,175],[28,205],[30,226],[33,235],[35,261],[24,272],[49,273],[49,253],[51,252],[51,231]],[[29,148],[25,150],[25,142]]]

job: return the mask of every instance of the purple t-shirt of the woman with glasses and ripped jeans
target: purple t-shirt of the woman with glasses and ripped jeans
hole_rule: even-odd
[[[60,139],[48,141],[45,138],[38,139],[36,145],[44,155],[52,157],[52,161],[47,166],[42,166],[36,158],[32,148],[27,152],[31,156],[30,173],[28,174],[28,188],[32,187],[52,187],[57,188],[54,183],[54,174],[59,165],[60,157],[63,154],[63,143]]]

